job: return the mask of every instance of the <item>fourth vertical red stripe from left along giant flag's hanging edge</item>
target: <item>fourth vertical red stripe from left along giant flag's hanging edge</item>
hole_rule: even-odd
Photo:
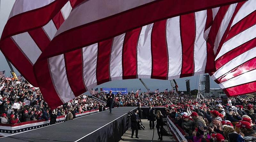
[[[124,37],[122,51],[123,79],[136,78],[137,73],[137,43],[141,28],[127,32]]]

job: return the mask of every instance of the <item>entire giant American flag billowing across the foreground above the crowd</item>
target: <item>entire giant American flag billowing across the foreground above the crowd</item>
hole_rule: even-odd
[[[247,94],[255,10],[253,0],[17,0],[0,49],[51,108],[116,79],[209,73],[228,96]]]

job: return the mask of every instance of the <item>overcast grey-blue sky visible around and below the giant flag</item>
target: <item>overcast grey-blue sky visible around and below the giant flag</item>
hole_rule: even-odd
[[[2,35],[2,31],[4,29],[4,25],[7,22],[7,19],[9,17],[9,14],[12,10],[12,5],[14,4],[15,0],[0,0],[0,34]],[[5,70],[5,75],[10,76],[10,68],[4,58],[3,53],[0,51],[0,71]],[[14,69],[17,75],[20,75],[16,69]],[[186,78],[178,78],[175,79],[180,91],[186,91],[186,83],[185,80],[190,79],[190,88],[198,89],[198,82],[199,82],[199,76],[193,76],[193,77],[186,77]],[[164,89],[168,88],[168,90],[171,89],[171,84],[169,80],[159,80],[159,79],[142,79],[145,84],[148,86],[150,90],[155,90],[159,88],[159,91],[164,91]],[[211,78],[211,88],[220,88]],[[102,87],[113,87],[113,88],[127,88],[128,91],[140,89],[141,91],[146,91],[146,88],[141,84],[139,79],[127,79],[127,80],[115,80],[110,81],[104,84],[101,84],[99,86],[96,86],[94,88],[102,88]],[[203,89],[203,87],[201,88]],[[88,94],[88,92],[86,92]]]

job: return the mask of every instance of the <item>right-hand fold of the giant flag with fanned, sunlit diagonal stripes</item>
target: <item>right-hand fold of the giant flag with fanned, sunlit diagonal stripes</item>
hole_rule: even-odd
[[[231,4],[222,12],[222,19],[214,19],[221,25],[214,41],[217,71],[212,78],[228,96],[255,92],[255,2]]]

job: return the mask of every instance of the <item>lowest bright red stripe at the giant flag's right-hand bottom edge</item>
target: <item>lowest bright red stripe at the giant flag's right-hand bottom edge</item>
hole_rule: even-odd
[[[255,92],[255,86],[256,86],[256,81],[252,81],[250,83],[223,89],[223,91],[228,96],[235,96],[235,95],[237,95],[237,92],[239,92],[240,95],[244,95],[244,94]]]

